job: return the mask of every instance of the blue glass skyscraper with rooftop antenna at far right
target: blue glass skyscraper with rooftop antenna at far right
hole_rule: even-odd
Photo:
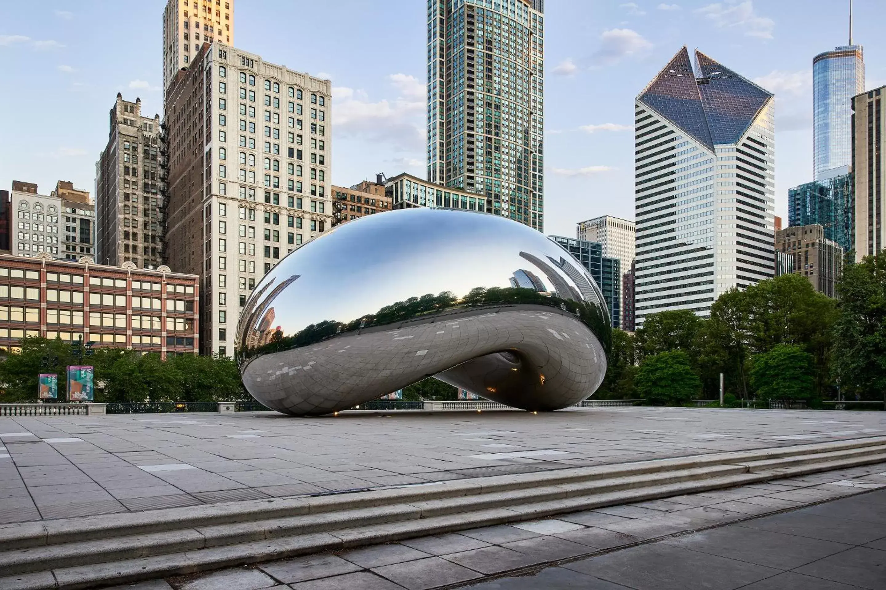
[[[846,174],[852,159],[852,96],[865,91],[865,57],[852,44],[852,3],[849,4],[849,45],[812,59],[812,160],[814,180]]]

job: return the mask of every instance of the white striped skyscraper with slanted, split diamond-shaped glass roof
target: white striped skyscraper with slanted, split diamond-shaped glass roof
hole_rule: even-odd
[[[634,104],[636,324],[774,272],[773,95],[683,47]]]

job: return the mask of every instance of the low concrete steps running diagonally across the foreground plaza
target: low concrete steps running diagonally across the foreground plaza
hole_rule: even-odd
[[[74,522],[46,521],[36,524],[39,530],[35,524],[3,527],[0,572],[7,577],[0,578],[0,588],[108,586],[879,462],[886,462],[882,437],[362,494],[65,519],[80,523],[82,534],[74,540]],[[269,510],[263,512],[264,502]],[[219,509],[233,511],[234,517],[220,523]],[[167,514],[159,518],[159,530],[150,530],[145,517],[158,512]]]

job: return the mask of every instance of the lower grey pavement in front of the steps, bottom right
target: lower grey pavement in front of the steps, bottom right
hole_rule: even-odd
[[[886,464],[110,590],[877,590]]]

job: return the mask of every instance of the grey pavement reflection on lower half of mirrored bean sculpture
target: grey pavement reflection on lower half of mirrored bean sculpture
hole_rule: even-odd
[[[259,356],[244,373],[245,385],[274,410],[319,415],[364,402],[367,391],[395,391],[440,372],[441,380],[457,381],[491,400],[520,402],[527,410],[569,406],[602,382],[602,346],[569,313],[522,305],[437,319],[342,334],[319,345]],[[517,355],[503,356],[500,364],[511,364],[506,370],[521,379],[525,391],[519,399],[513,390],[508,396],[497,395],[494,384],[501,375],[475,374],[469,363],[514,350]],[[447,371],[459,364],[465,364],[463,371]],[[540,379],[527,386],[524,381],[532,375]],[[470,387],[464,379],[473,379]]]

